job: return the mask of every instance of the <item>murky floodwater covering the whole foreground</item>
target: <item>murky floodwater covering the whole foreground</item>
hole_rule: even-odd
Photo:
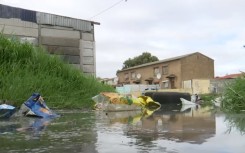
[[[214,108],[56,111],[0,120],[0,153],[244,153],[245,114]]]

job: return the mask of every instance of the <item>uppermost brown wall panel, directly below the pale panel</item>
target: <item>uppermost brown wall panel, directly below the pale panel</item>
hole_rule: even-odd
[[[42,45],[54,45],[64,47],[79,47],[79,39],[41,37]]]

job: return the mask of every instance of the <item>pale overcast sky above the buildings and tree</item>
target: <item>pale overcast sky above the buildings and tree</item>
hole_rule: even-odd
[[[200,52],[215,76],[245,71],[244,0],[0,0],[1,4],[99,22],[97,76],[111,78],[128,58],[159,60]]]

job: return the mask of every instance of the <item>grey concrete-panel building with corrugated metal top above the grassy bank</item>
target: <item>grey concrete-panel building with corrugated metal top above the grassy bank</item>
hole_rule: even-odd
[[[0,30],[45,47],[84,73],[96,74],[94,25],[99,23],[0,4]]]

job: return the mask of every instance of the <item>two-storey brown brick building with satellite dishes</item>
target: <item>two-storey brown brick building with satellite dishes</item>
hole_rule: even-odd
[[[117,77],[118,84],[159,84],[161,89],[180,89],[184,81],[213,79],[214,60],[195,52],[123,69]]]

